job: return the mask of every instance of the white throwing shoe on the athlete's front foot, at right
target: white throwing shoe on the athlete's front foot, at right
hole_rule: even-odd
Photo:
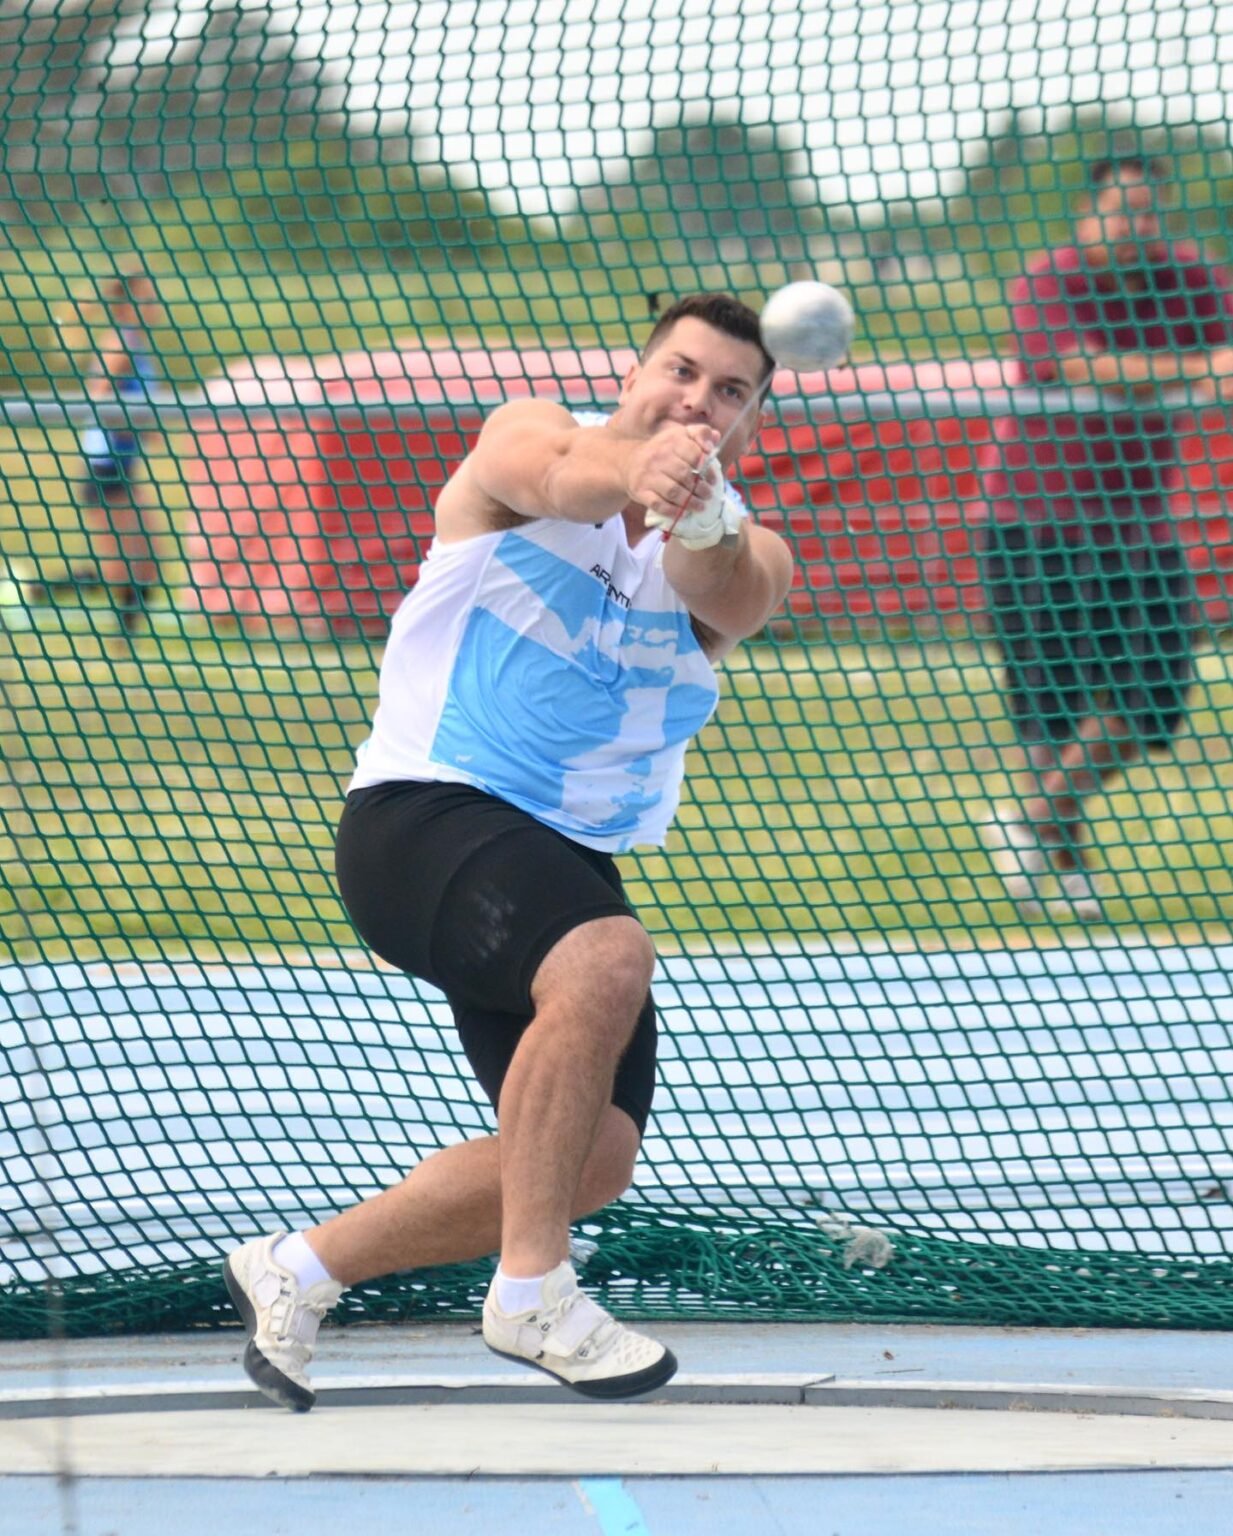
[[[585,1398],[633,1398],[676,1373],[663,1344],[636,1333],[577,1289],[567,1261],[544,1276],[540,1306],[502,1312],[496,1279],[484,1303],[484,1342],[494,1355],[545,1370]]]

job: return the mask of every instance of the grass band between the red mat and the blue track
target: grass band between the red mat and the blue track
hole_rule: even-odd
[[[364,644],[255,642],[174,611],[131,641],[101,605],[26,608],[0,588],[6,952],[352,948],[332,840],[376,662]],[[1199,671],[1173,756],[1093,802],[1124,935],[1230,928],[1230,659]],[[1015,763],[977,642],[751,645],[726,667],[671,845],[626,863],[631,895],[663,952],[1087,942],[1026,928],[980,848]]]

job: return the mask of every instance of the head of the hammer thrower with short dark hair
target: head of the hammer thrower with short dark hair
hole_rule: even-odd
[[[625,375],[620,410],[628,425],[646,436],[669,422],[714,427],[723,435],[740,418],[723,445],[722,462],[731,468],[759,430],[762,413],[754,396],[762,382],[762,352],[752,343],[686,315]]]

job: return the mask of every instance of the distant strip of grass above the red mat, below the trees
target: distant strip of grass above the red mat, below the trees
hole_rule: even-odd
[[[236,226],[240,227],[240,226]],[[643,238],[603,253],[594,244],[501,246],[422,253],[422,270],[250,272],[183,252],[155,257],[167,326],[157,350],[167,381],[190,389],[240,358],[322,356],[387,347],[626,347],[646,330],[646,292],[714,286],[686,241]],[[318,257],[321,253],[318,252]],[[510,263],[513,258],[513,264]],[[494,266],[493,261],[499,261]],[[857,361],[987,355],[1006,332],[1004,275],[967,257],[980,275],[883,286],[868,260],[851,264],[861,313]],[[201,270],[195,270],[200,267]],[[81,261],[66,252],[32,263],[0,252],[0,389],[75,393],[88,353],[64,349],[55,315],[81,295]],[[778,260],[742,264],[722,286],[755,303],[794,273]]]

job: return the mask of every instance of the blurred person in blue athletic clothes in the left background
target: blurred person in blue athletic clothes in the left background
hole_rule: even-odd
[[[92,358],[84,384],[100,406],[140,406],[158,378],[152,332],[166,324],[154,281],[144,272],[106,278],[97,300],[83,306],[92,332]],[[141,432],[123,421],[91,424],[81,432],[83,473],[74,482],[78,505],[91,530],[94,564],[77,565],[72,581],[55,584],[51,594],[72,596],[84,587],[106,587],[126,630],[146,611],[158,585],[157,535],[143,475]],[[48,588],[32,588],[37,601]]]

